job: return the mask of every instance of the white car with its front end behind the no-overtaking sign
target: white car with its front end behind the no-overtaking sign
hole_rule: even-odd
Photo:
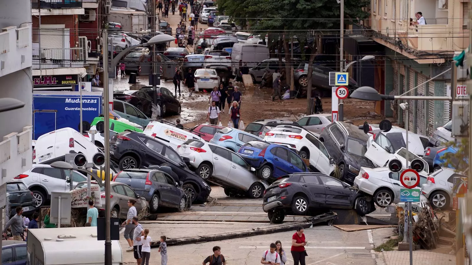
[[[401,172],[393,173],[388,167],[368,168],[361,167],[359,175],[354,179],[354,186],[374,197],[379,207],[400,202],[400,189],[405,189],[400,182]],[[420,173],[420,184],[414,188],[420,190],[421,184],[426,182],[428,175]]]

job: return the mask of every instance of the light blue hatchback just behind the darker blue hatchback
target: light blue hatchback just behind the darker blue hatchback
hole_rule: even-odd
[[[212,144],[237,152],[246,142],[261,140],[249,132],[244,132],[235,128],[226,127],[216,132],[210,140]]]

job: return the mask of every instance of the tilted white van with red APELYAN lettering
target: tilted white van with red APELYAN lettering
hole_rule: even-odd
[[[177,150],[177,145],[182,144],[188,139],[198,139],[205,141],[200,138],[200,136],[191,132],[187,132],[172,125],[163,124],[160,122],[150,122],[144,129],[143,133],[152,137],[156,137],[161,141],[165,141],[174,150]]]

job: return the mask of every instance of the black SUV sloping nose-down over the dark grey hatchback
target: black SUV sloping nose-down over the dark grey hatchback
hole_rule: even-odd
[[[183,182],[182,189],[192,201],[205,202],[211,188],[202,178],[190,171],[182,158],[169,145],[141,132],[120,132],[110,139],[110,158],[118,162],[120,170],[169,166]]]

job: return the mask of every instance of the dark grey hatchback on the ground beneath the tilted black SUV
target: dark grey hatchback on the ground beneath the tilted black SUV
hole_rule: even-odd
[[[152,213],[157,212],[160,206],[185,208],[185,191],[171,176],[160,170],[152,169],[125,169],[118,173],[113,181],[126,183],[137,194],[149,201]],[[183,184],[183,182],[182,182]]]

